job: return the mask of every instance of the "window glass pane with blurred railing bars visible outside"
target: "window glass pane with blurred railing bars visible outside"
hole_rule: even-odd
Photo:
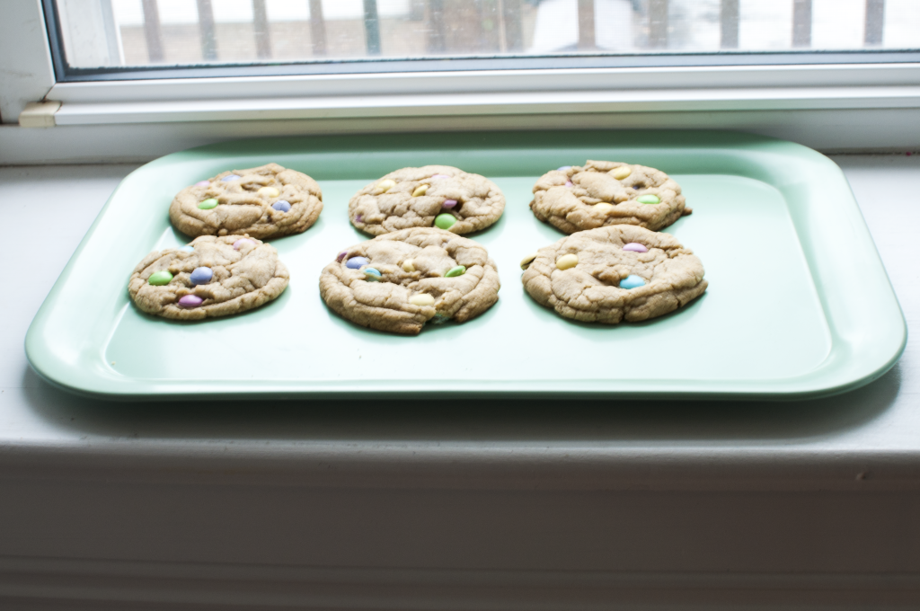
[[[920,0],[54,0],[70,68],[920,48]]]

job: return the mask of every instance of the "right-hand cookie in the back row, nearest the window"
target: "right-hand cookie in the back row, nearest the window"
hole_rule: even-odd
[[[546,172],[534,185],[536,218],[567,234],[606,225],[658,231],[684,214],[681,187],[654,167],[588,161]]]

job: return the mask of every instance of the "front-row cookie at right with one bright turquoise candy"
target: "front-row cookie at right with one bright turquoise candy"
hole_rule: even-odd
[[[660,317],[706,291],[703,263],[677,238],[633,225],[580,231],[521,262],[524,288],[566,318]]]

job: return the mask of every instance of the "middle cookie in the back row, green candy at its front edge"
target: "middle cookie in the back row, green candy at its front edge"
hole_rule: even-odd
[[[372,236],[432,226],[468,234],[498,221],[504,209],[494,182],[450,166],[397,169],[348,202],[351,225]]]

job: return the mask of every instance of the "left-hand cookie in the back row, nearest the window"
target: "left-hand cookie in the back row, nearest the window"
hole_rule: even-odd
[[[278,164],[235,169],[178,192],[169,220],[187,236],[299,234],[323,210],[316,180]]]

